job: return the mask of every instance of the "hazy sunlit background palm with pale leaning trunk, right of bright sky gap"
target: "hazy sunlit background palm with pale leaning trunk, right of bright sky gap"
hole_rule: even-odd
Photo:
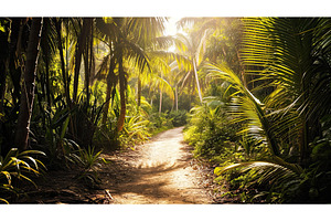
[[[183,34],[178,36],[188,46],[185,55],[191,60],[192,65],[183,77],[183,84],[190,85],[190,82],[193,83],[192,77],[195,77],[201,103],[202,95],[197,71],[203,66],[201,65],[203,61],[213,63],[218,62],[220,59],[226,61],[232,70],[242,75],[246,85],[238,49],[242,35],[238,18],[183,18],[178,22],[178,27],[184,28],[185,25],[191,25],[193,31],[190,32],[189,36]]]

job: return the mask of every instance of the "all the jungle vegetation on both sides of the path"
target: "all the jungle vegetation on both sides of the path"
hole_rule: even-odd
[[[46,170],[97,185],[103,150],[188,123],[226,197],[330,202],[331,20],[183,18],[174,36],[164,22],[0,18],[1,201]]]

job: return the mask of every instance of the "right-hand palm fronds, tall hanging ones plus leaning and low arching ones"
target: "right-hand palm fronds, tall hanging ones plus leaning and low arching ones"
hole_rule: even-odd
[[[238,120],[247,122],[246,131],[260,134],[269,140],[267,147],[271,155],[267,160],[217,168],[215,173],[239,167],[244,168],[242,171],[253,169],[258,173],[258,182],[274,182],[271,186],[280,187],[280,191],[285,192],[303,183],[303,170],[297,164],[305,168],[316,165],[311,164],[309,144],[316,137],[323,137],[320,122],[331,109],[331,20],[247,18],[244,22],[244,64],[248,67],[247,73],[261,82],[256,90],[271,88],[265,104],[259,103],[229,70],[214,65],[210,70],[236,90],[232,95],[234,102],[229,104],[233,114]],[[298,148],[299,156],[292,159],[297,164],[286,161],[288,150],[281,144]]]

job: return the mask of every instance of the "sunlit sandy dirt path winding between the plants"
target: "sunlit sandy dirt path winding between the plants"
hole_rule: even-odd
[[[116,204],[212,203],[192,166],[182,127],[161,133],[136,151],[104,155],[103,188]]]

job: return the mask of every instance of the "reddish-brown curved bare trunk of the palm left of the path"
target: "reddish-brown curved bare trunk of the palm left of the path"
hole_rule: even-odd
[[[117,131],[121,131],[126,119],[126,76],[122,67],[122,56],[118,60],[119,71],[119,96],[120,96],[120,114],[117,122]]]

